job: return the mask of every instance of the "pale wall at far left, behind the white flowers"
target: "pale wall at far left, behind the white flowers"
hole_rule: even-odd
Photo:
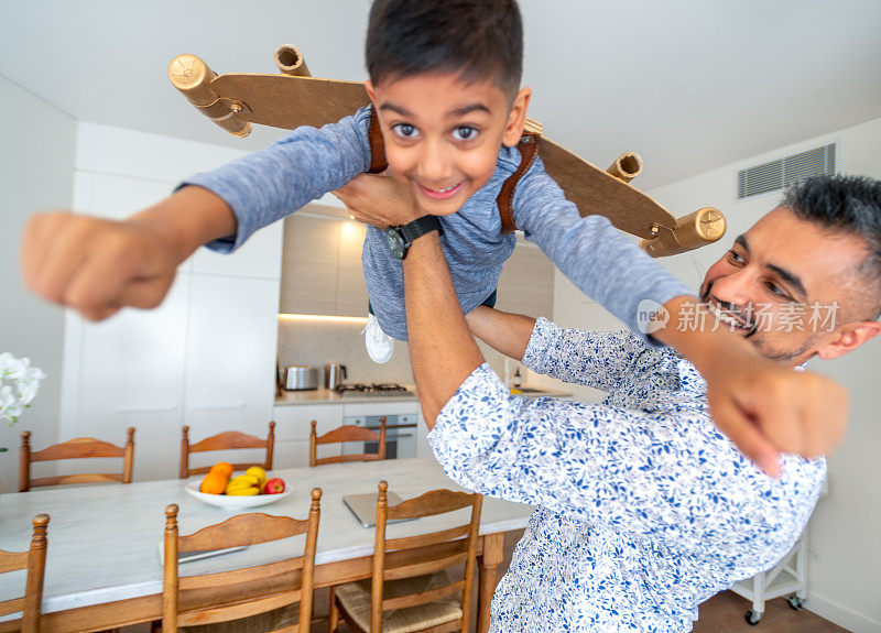
[[[61,393],[64,314],[28,292],[19,272],[19,242],[28,216],[70,207],[76,121],[0,76],[0,352],[28,357],[46,373],[32,408],[18,425],[0,425],[0,481],[15,490],[19,433],[55,441]]]

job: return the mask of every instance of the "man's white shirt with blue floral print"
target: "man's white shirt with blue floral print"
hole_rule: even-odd
[[[690,631],[697,605],[772,567],[801,535],[824,459],[763,474],[709,417],[706,383],[629,331],[539,319],[534,371],[600,405],[512,396],[482,364],[428,439],[447,476],[536,505],[492,601],[492,631]]]

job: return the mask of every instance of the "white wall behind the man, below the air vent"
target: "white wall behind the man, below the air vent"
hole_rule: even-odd
[[[674,216],[716,206],[728,219],[728,232],[719,242],[664,259],[663,263],[697,288],[706,269],[733,238],[776,206],[780,197],[780,192],[772,192],[738,201],[736,172],[833,142],[838,143],[840,173],[881,178],[881,119],[874,119],[646,192]],[[639,186],[638,181],[634,184]],[[594,329],[622,327],[557,274],[554,316],[558,323]],[[880,349],[881,341],[872,340],[845,358],[827,363],[812,361],[809,365],[850,388],[851,418],[845,443],[828,460],[829,494],[819,501],[811,522],[807,608],[856,632],[881,631],[881,414],[877,401]],[[579,395],[596,397],[590,392]]]

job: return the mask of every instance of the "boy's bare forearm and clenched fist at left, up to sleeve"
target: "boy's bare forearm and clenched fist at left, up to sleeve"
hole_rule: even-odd
[[[231,209],[200,187],[185,187],[123,221],[37,214],[24,229],[22,273],[36,294],[101,320],[124,306],[156,307],[181,262],[235,232]]]

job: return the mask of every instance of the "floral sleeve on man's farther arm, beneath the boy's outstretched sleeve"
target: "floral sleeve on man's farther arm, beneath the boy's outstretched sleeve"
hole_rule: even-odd
[[[532,329],[523,364],[564,382],[612,391],[645,350],[645,343],[630,330],[564,329],[541,317]]]

